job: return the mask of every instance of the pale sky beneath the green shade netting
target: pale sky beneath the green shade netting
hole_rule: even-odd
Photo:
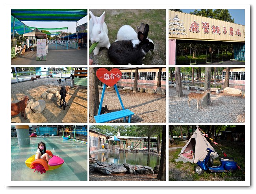
[[[87,16],[78,20],[77,26],[87,23]],[[29,22],[29,21],[22,21],[22,22],[30,27],[41,27],[41,28],[68,27],[69,32],[76,33],[76,22]],[[67,32],[67,29],[62,31]],[[56,30],[50,31],[50,32],[56,32]]]

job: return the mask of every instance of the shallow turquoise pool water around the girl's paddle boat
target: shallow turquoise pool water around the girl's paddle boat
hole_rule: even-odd
[[[61,167],[41,174],[26,166],[40,141],[45,142],[46,150],[64,159]],[[11,138],[11,181],[87,181],[87,145],[61,137],[31,137],[30,145],[19,146],[18,139]]]

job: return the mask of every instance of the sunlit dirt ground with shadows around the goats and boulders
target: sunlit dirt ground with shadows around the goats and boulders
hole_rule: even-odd
[[[58,84],[57,79],[40,79],[11,84],[11,101],[21,100],[24,95],[29,99],[38,101],[43,99],[42,93],[50,87],[60,90],[61,86],[71,84],[71,80]],[[27,120],[19,113],[11,117],[11,123],[86,123],[87,122],[87,89],[73,87],[66,95],[66,102],[69,106],[65,110],[59,107],[60,100],[57,97],[51,100],[43,99],[46,102],[45,110],[41,113],[30,113],[26,115]]]

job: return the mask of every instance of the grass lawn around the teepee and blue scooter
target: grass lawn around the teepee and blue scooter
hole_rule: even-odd
[[[182,142],[180,139],[175,140],[175,145],[172,147],[184,146],[186,143]],[[178,158],[178,154],[181,148],[175,150],[169,150],[169,181],[245,181],[245,143],[244,142],[232,142],[218,140],[218,146],[229,156],[233,157],[237,162],[237,165],[242,169],[235,170],[234,172],[222,172],[222,173],[212,173],[204,172],[201,176],[195,173],[196,164],[191,164],[189,162],[183,163],[176,162],[175,159]],[[212,145],[215,152],[219,156],[223,156],[221,150],[217,146]],[[214,159],[214,166],[219,166],[219,159]]]

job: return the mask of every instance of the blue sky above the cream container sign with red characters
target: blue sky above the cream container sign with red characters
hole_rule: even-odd
[[[184,13],[190,13],[190,12],[193,12],[195,9],[181,9],[181,10]],[[234,18],[235,24],[245,25],[245,9],[228,9],[228,11],[231,15],[231,18]]]

